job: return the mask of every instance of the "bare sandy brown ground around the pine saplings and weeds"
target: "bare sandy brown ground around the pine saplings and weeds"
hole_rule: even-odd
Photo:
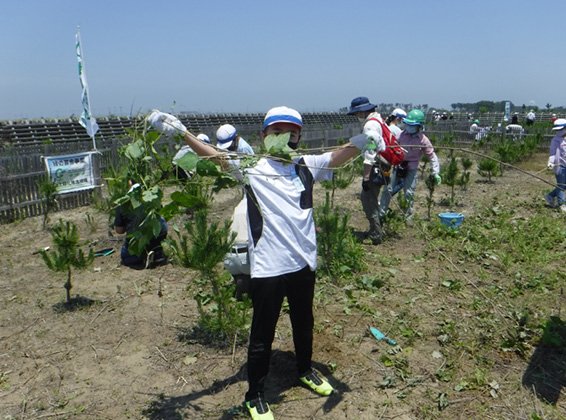
[[[544,156],[531,165],[526,169],[543,167]],[[552,179],[548,173],[540,176]],[[492,185],[477,183],[477,178],[472,174],[467,204],[458,209],[468,216],[494,197],[536,203],[531,206],[536,211],[550,211],[542,204],[542,191],[548,186],[539,180],[519,171],[507,171]],[[359,189],[356,181],[338,191],[336,202],[350,210],[352,227],[363,231],[367,222]],[[323,191],[318,187],[319,203]],[[445,186],[439,188],[437,203],[447,191]],[[426,212],[424,195],[421,182],[419,215]],[[227,217],[237,201],[237,193],[223,193],[215,200],[214,217]],[[435,213],[444,210],[438,204],[435,207]],[[73,295],[94,303],[61,311],[64,277],[49,271],[34,254],[51,245],[41,218],[1,226],[1,418],[245,418],[238,407],[247,387],[246,347],[218,350],[180,339],[198,317],[195,301],[187,292],[195,273],[171,264],[141,271],[121,266],[120,238],[109,236],[108,217],[93,207],[60,212],[52,219],[59,217],[75,222],[81,238],[95,243],[96,249],[110,246],[117,252],[97,257],[92,268],[75,276]],[[89,218],[91,223],[86,222]],[[556,407],[546,410],[543,402],[521,386],[527,361],[513,355],[494,357],[494,375],[505,389],[498,399],[485,390],[470,392],[452,398],[443,411],[436,410],[431,401],[443,384],[435,372],[443,362],[432,325],[421,325],[424,334],[411,343],[406,337],[396,337],[401,348],[411,349],[407,363],[413,383],[383,385],[388,372],[383,356],[391,349],[370,337],[368,324],[387,331],[387,320],[403,316],[415,305],[423,314],[453,309],[449,301],[435,299],[434,288],[422,280],[435,278],[442,270],[438,259],[418,258],[423,245],[411,228],[388,237],[382,245],[363,244],[368,259],[396,262],[395,269],[389,270],[393,277],[388,286],[369,299],[383,315],[381,323],[363,311],[345,311],[342,291],[331,283],[318,285],[314,361],[336,387],[333,396],[318,397],[298,385],[292,374],[290,322],[286,315],[281,316],[267,383],[267,399],[276,418],[534,418],[530,417],[533,412],[542,414],[538,418],[545,413],[551,413],[548,418],[566,418],[564,388]],[[368,273],[374,270],[384,269],[376,264]],[[455,309],[453,313],[458,316]],[[425,403],[430,410],[423,408]]]

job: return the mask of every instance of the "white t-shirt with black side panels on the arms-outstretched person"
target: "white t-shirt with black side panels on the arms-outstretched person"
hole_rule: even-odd
[[[312,190],[315,181],[332,178],[330,156],[300,156],[296,164],[264,158],[244,171],[252,277],[316,269]]]

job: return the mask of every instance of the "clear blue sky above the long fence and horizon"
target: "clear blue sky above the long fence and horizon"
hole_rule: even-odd
[[[374,103],[566,105],[563,1],[3,0],[0,120],[337,111]]]

